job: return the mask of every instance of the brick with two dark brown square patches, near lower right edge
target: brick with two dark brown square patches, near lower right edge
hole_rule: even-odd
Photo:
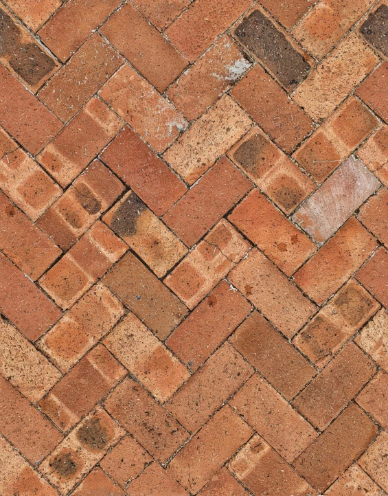
[[[319,368],[369,320],[379,305],[363,286],[350,280],[293,339]]]

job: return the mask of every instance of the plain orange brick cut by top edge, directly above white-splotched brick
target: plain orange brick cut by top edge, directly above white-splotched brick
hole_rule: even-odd
[[[174,45],[194,62],[216,37],[227,30],[252,5],[252,0],[200,0],[181,14],[166,30]]]

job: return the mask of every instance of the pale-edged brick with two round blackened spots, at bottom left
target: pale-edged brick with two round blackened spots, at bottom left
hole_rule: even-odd
[[[39,471],[65,496],[122,436],[124,429],[97,407],[58,444]]]

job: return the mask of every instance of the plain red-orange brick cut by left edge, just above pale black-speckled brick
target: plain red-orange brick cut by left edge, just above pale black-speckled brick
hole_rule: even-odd
[[[0,311],[22,334],[35,341],[61,313],[23,272],[0,253]]]

